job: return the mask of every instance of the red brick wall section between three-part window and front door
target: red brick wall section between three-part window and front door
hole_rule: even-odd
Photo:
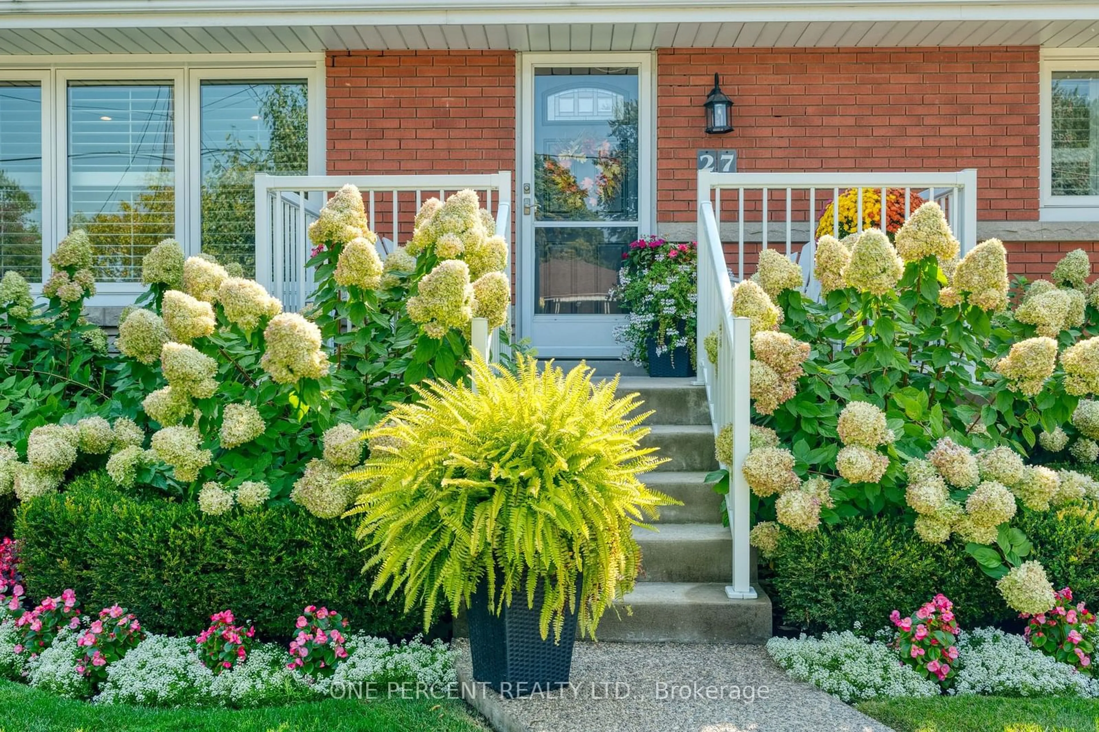
[[[330,174],[514,169],[514,52],[341,51],[328,64]]]

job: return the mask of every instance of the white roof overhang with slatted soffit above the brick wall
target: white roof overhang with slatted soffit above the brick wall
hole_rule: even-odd
[[[0,55],[956,45],[1099,47],[1099,2],[0,0]]]

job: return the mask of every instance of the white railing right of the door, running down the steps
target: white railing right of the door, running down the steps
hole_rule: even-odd
[[[714,435],[733,425],[733,464],[729,470],[725,506],[733,534],[733,584],[730,598],[754,598],[751,585],[751,493],[741,467],[748,454],[751,429],[751,329],[746,318],[732,315],[733,281],[746,276],[745,251],[779,245],[795,257],[804,274],[806,291],[820,291],[812,276],[817,224],[823,204],[837,200],[847,189],[858,189],[857,221],[863,222],[863,189],[904,189],[904,215],[909,193],[934,200],[943,207],[951,229],[968,252],[977,244],[977,171],[956,173],[699,173],[698,174],[698,343],[721,329],[715,367],[699,357],[699,378],[706,384]],[[722,192],[725,192],[724,202]],[[777,201],[777,203],[776,203]],[[729,211],[728,223],[722,214]],[[885,229],[887,209],[877,222]],[[728,232],[725,237],[722,236]],[[839,209],[833,207],[833,234],[839,233]],[[735,242],[735,275],[725,262],[723,242]],[[798,248],[795,249],[795,244]]]

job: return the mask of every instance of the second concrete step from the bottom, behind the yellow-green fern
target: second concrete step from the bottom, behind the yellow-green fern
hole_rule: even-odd
[[[662,523],[658,530],[635,526],[641,573],[648,583],[721,583],[733,572],[733,539],[720,523]]]

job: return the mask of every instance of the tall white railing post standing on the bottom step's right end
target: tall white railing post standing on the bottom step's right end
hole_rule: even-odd
[[[752,429],[751,369],[752,329],[747,318],[733,319],[733,464],[729,466],[729,496],[725,507],[733,532],[733,584],[725,588],[730,599],[756,597],[752,587],[752,547],[748,545],[752,500],[744,478],[744,458],[748,455]]]

